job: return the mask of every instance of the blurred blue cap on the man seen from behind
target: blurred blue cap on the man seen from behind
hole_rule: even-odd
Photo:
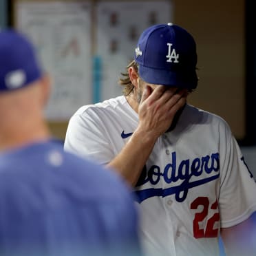
[[[0,32],[0,93],[30,85],[42,76],[36,51],[25,35]]]

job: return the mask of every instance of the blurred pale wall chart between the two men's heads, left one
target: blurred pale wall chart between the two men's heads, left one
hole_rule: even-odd
[[[27,34],[52,76],[48,120],[68,120],[92,100],[91,4],[86,1],[20,1],[15,26]]]

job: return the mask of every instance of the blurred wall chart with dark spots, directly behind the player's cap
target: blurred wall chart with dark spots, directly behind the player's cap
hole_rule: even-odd
[[[100,100],[122,94],[120,72],[134,59],[138,37],[145,28],[172,21],[171,1],[100,1],[97,8],[97,47],[100,60]]]

